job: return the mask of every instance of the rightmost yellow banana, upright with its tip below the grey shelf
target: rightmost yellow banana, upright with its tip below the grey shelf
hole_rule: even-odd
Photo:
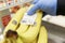
[[[38,43],[48,43],[48,33],[44,26],[41,26],[40,28]]]

